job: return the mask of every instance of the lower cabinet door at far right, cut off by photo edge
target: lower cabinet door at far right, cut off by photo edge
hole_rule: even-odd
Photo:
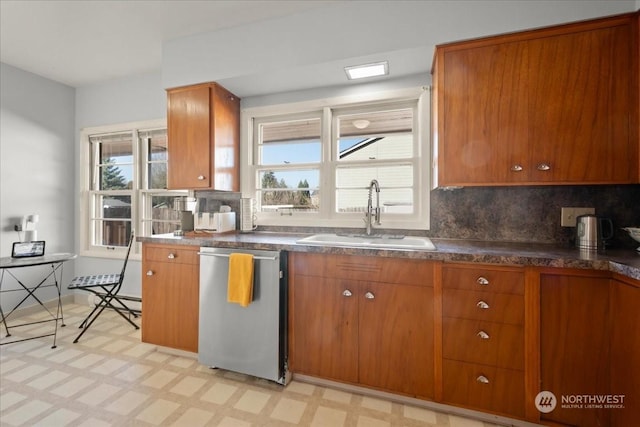
[[[611,425],[640,420],[640,283],[612,280],[611,394],[624,395],[624,408],[611,409]]]

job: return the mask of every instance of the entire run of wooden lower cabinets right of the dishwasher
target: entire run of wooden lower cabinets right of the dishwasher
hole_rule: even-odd
[[[293,373],[552,426],[640,421],[640,280],[402,258],[289,261]],[[550,413],[535,407],[540,391],[558,400]],[[624,407],[567,406],[584,396]]]

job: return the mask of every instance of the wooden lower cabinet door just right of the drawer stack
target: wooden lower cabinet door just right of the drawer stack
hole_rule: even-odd
[[[540,388],[558,399],[542,418],[609,425],[609,410],[561,407],[562,396],[609,394],[609,279],[542,274],[540,286]]]

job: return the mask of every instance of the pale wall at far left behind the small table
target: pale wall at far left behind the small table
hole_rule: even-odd
[[[38,239],[46,253],[74,252],[76,129],[75,90],[0,63],[0,256],[11,255],[18,241],[13,230],[23,215],[39,214]],[[46,270],[47,268],[44,268]],[[33,282],[43,268],[15,270]],[[64,265],[66,279],[73,277],[74,262]],[[40,276],[38,276],[40,275]],[[3,289],[15,282],[5,274]],[[41,293],[52,299],[54,290]],[[63,289],[66,293],[66,289]],[[2,294],[3,310],[24,294]],[[33,305],[29,299],[25,305]]]

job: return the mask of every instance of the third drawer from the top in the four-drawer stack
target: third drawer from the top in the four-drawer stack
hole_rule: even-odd
[[[524,369],[521,326],[450,317],[442,319],[442,326],[445,359]]]

